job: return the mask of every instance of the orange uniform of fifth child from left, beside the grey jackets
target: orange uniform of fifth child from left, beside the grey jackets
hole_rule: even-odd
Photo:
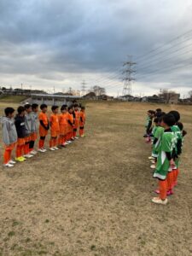
[[[40,140],[39,140],[38,148],[44,148],[44,140],[49,130],[49,119],[47,114],[44,112],[39,113],[38,119],[40,122],[40,125],[39,125]]]

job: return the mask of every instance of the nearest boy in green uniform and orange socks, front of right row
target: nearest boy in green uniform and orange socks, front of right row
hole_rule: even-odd
[[[166,205],[167,203],[167,174],[170,167],[172,168],[175,165],[172,159],[174,133],[171,129],[174,124],[175,118],[171,113],[167,113],[162,117],[161,126],[165,130],[161,140],[156,169],[154,171],[154,177],[159,179],[160,196],[152,199],[154,203],[161,205]]]

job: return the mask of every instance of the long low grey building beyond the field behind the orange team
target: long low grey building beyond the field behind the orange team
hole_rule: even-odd
[[[62,106],[66,104],[67,106],[70,106],[73,101],[77,101],[81,99],[79,96],[65,96],[65,95],[55,95],[55,94],[32,94],[28,99],[26,99],[24,104],[26,102],[32,104],[37,103],[38,105],[46,104],[48,106]]]

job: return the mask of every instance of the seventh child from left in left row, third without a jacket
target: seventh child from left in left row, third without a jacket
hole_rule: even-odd
[[[67,105],[61,107],[61,114],[59,115],[59,125],[60,125],[60,138],[59,145],[61,148],[66,148],[67,141]]]

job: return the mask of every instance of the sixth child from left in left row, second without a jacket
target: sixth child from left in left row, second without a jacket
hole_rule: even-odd
[[[56,147],[57,138],[60,135],[60,125],[59,125],[59,107],[53,106],[51,108],[52,114],[50,115],[49,124],[50,124],[50,140],[49,140],[49,149],[51,151],[58,150]]]

